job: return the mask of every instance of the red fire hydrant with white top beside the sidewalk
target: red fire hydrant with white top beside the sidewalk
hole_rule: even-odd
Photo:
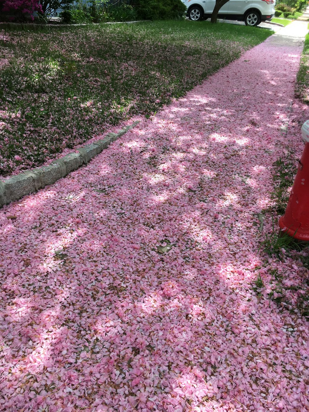
[[[309,120],[302,125],[302,138],[306,140],[304,151],[279,226],[295,239],[309,241]]]

